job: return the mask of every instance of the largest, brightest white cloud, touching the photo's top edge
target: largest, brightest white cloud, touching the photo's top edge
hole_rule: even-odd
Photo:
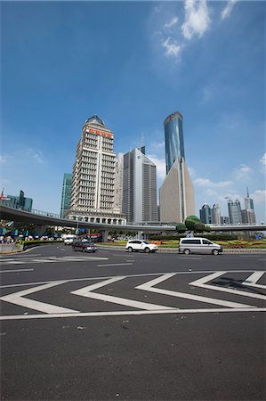
[[[209,17],[206,0],[185,1],[185,21],[181,26],[183,37],[191,39],[195,35],[202,37],[209,29],[211,20]]]

